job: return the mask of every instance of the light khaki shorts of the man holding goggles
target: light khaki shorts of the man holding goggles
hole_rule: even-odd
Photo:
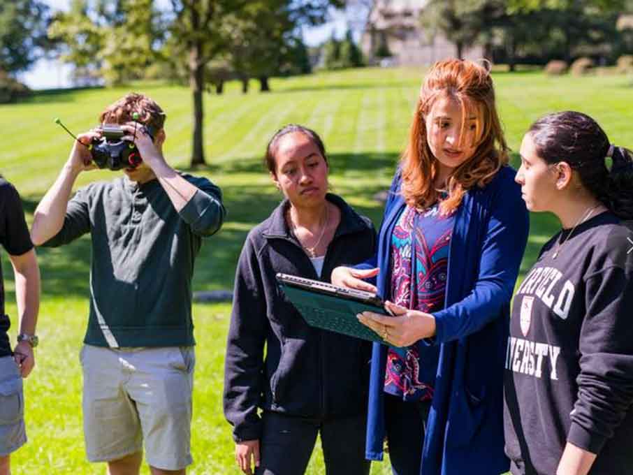
[[[193,346],[119,348],[84,345],[82,409],[91,462],[143,450],[155,468],[182,470],[191,458]]]

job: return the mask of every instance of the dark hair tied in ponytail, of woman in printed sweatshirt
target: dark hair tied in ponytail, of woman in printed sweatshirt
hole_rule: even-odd
[[[565,161],[609,210],[633,219],[633,154],[612,146],[594,119],[582,112],[556,112],[538,119],[528,133],[541,159]]]

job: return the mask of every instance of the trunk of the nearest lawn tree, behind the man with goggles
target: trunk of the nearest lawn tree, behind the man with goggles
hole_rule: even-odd
[[[197,8],[191,8],[191,25],[194,31],[200,24],[200,14]],[[194,41],[189,50],[189,87],[194,95],[194,136],[191,152],[191,167],[205,165],[205,151],[203,142],[204,105],[203,92],[205,87],[205,69],[202,62],[202,43]]]

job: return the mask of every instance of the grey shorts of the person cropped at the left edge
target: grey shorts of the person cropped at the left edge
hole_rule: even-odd
[[[0,457],[17,451],[26,441],[22,377],[13,356],[3,356],[0,358]]]

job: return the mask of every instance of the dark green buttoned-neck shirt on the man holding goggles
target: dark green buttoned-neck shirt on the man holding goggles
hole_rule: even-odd
[[[92,237],[90,315],[84,342],[96,346],[194,344],[191,277],[202,238],[224,219],[221,191],[183,174],[198,191],[180,212],[158,180],[89,184],[68,202],[57,247]]]

